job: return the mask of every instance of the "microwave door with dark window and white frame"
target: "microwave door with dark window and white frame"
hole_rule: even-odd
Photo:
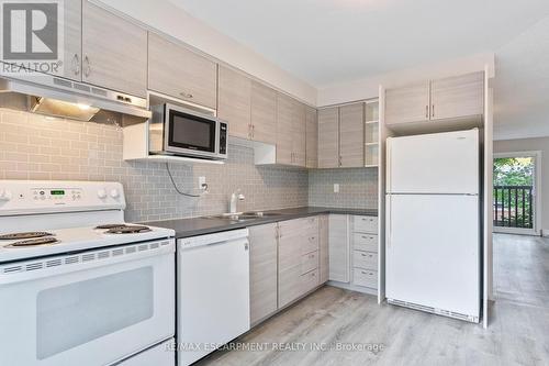
[[[165,151],[172,154],[219,157],[219,123],[213,117],[166,104]]]

